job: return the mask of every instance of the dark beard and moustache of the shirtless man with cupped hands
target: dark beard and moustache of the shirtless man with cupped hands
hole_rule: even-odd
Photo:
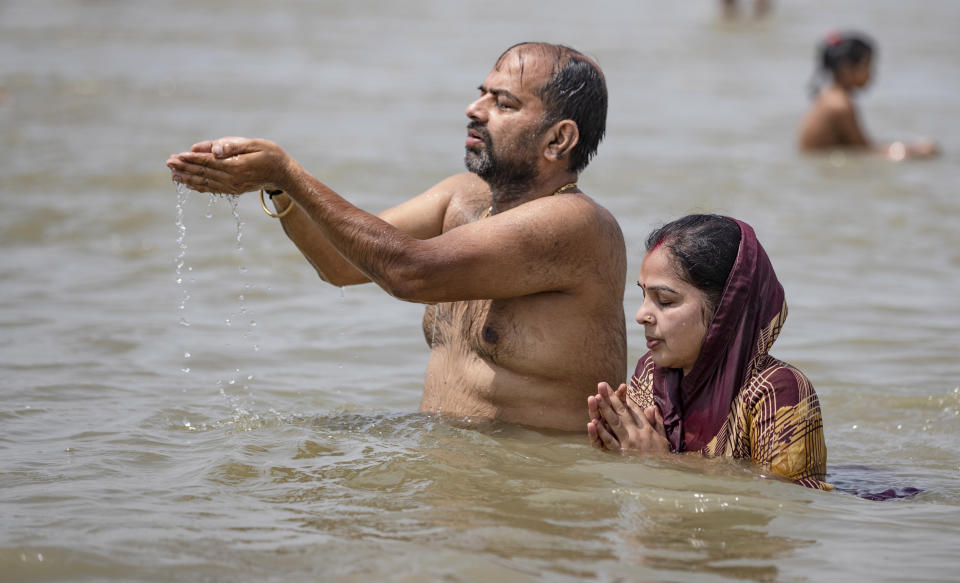
[[[467,170],[479,176],[490,185],[490,190],[498,200],[518,198],[526,194],[537,179],[536,155],[531,154],[536,147],[539,133],[522,138],[510,148],[511,154],[498,157],[493,153],[493,142],[487,128],[473,121],[467,126],[483,140],[483,149],[479,152],[467,148],[463,157]]]

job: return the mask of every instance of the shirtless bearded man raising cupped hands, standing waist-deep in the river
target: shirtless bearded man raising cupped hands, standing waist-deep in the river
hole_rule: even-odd
[[[479,89],[470,172],[378,216],[266,140],[201,142],[167,165],[195,190],[271,192],[324,281],[430,304],[422,411],[582,431],[587,396],[626,372],[623,235],[576,184],[605,131],[603,73],[568,47],[522,43]]]

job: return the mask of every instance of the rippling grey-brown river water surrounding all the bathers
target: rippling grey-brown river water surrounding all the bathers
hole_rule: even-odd
[[[0,580],[955,580],[958,22],[953,0],[763,22],[705,0],[0,2]],[[868,131],[944,156],[797,155],[813,44],[848,26],[880,43]],[[843,491],[419,414],[420,306],[326,286],[255,196],[169,181],[170,153],[262,136],[379,211],[460,171],[463,109],[520,40],[604,67],[581,186],[631,279],[665,220],[753,224],[790,303],[773,352],[817,387]]]

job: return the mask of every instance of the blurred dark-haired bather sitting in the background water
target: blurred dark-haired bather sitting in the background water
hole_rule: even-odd
[[[813,83],[814,103],[800,129],[800,148],[811,152],[832,148],[874,151],[891,160],[932,156],[929,140],[878,144],[860,128],[853,94],[870,82],[873,44],[857,33],[831,33],[818,49],[819,67]],[[817,82],[825,81],[823,87]]]

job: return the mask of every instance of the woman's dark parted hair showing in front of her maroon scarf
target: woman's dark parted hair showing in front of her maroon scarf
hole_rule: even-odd
[[[707,296],[709,322],[723,296],[723,287],[740,250],[740,225],[719,215],[687,215],[663,225],[647,237],[647,253],[670,250],[677,276]]]

